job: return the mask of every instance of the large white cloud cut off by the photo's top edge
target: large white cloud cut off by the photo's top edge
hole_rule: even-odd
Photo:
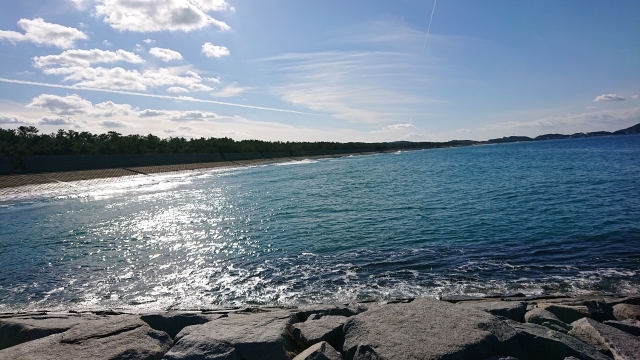
[[[226,23],[207,12],[226,8],[223,1],[212,0],[100,0],[96,14],[120,31],[192,31],[209,25],[229,30]]]

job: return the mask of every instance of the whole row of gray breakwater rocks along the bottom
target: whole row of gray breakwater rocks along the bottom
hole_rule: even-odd
[[[640,296],[0,315],[0,359],[640,359]]]

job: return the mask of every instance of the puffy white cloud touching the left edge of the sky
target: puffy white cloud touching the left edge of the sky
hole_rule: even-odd
[[[73,47],[76,40],[89,38],[78,29],[51,24],[41,18],[33,20],[20,19],[18,26],[25,31],[24,34],[16,31],[0,30],[0,40],[10,42],[27,41],[37,45],[56,46],[62,49],[68,49]]]

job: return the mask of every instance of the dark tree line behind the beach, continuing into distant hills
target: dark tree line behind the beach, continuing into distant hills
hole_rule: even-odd
[[[447,142],[394,141],[380,143],[365,142],[298,142],[261,141],[230,138],[160,138],[149,135],[122,135],[115,131],[106,134],[92,134],[74,130],[58,130],[52,134],[40,134],[34,126],[20,126],[17,129],[0,128],[0,160],[6,171],[22,172],[26,169],[25,158],[34,156],[74,156],[74,155],[183,155],[216,154],[220,160],[243,159],[240,154],[253,154],[249,158],[277,158],[288,156],[338,155],[362,152],[396,150],[434,149],[482,144],[500,144],[522,141],[542,141],[569,138],[584,138],[640,133],[640,124],[615,132],[597,131],[588,133],[545,134],[535,138],[528,136],[507,136],[487,141],[451,140]],[[238,156],[240,155],[240,156]],[[96,158],[98,159],[98,158]],[[101,157],[100,159],[104,159]],[[86,160],[86,159],[85,159]],[[66,160],[70,161],[70,160]],[[172,163],[183,160],[173,159]],[[217,161],[217,160],[216,160]],[[1,165],[1,164],[0,164]],[[98,165],[99,167],[99,165]],[[96,168],[96,167],[94,167]],[[11,170],[13,169],[13,170]]]

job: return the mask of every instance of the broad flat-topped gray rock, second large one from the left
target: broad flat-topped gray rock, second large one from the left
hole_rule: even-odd
[[[288,332],[297,322],[289,311],[229,314],[182,329],[165,358],[287,360],[296,351]]]

